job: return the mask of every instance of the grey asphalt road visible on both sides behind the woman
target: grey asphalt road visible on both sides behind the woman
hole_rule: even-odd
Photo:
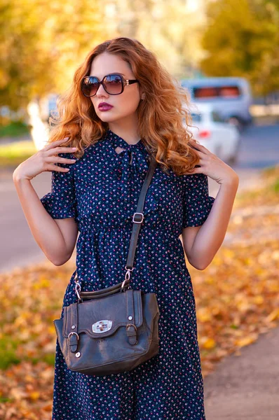
[[[233,169],[240,176],[241,188],[252,188],[259,183],[262,168],[279,162],[279,125],[250,127],[242,136],[239,162]],[[0,173],[0,272],[14,267],[46,260],[29,230],[13,184],[13,171]],[[44,172],[32,180],[36,193],[43,197],[50,191],[50,176]],[[216,197],[219,184],[209,179],[210,195]]]

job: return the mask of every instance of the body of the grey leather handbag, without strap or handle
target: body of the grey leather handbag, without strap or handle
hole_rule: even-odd
[[[53,322],[69,369],[103,376],[132,370],[158,354],[159,315],[155,293],[129,289],[98,300],[73,303],[64,308],[64,322],[62,318]],[[111,329],[93,332],[92,325],[102,320],[112,321]],[[78,328],[73,329],[72,325]],[[127,325],[130,326],[126,328]],[[74,334],[69,342],[70,332],[77,332],[79,339]],[[76,357],[77,352],[80,357]]]

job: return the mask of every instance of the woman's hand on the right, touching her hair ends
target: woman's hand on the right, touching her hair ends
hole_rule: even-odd
[[[238,181],[238,174],[214,153],[192,139],[190,139],[190,144],[197,149],[200,156],[200,162],[198,163],[200,167],[193,169],[191,174],[205,174],[219,184]]]

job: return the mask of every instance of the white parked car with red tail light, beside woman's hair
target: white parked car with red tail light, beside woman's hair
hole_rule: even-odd
[[[192,123],[189,130],[193,138],[210,152],[233,165],[238,160],[240,133],[210,104],[198,104],[191,108]]]

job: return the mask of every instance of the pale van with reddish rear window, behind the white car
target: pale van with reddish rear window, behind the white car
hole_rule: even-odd
[[[209,77],[181,80],[191,94],[193,104],[212,104],[224,120],[238,126],[252,123],[249,82],[241,77]]]

